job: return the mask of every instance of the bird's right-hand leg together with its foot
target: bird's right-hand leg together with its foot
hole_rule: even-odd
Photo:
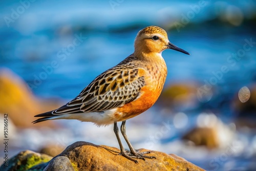
[[[123,138],[125,139],[126,143],[128,144],[129,148],[130,148],[130,154],[129,155],[132,158],[138,158],[138,159],[143,159],[143,160],[145,160],[144,158],[149,158],[149,159],[156,158],[154,156],[145,156],[145,155],[143,155],[143,154],[148,154],[150,152],[138,152],[134,149],[134,147],[132,146],[131,142],[129,141],[129,139],[126,135],[125,123],[126,123],[126,121],[123,121],[122,124],[121,124],[121,133],[122,133]]]

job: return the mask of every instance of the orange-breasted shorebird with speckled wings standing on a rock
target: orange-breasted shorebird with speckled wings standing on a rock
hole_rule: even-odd
[[[116,66],[97,76],[78,96],[60,108],[38,114],[33,123],[55,119],[77,119],[98,126],[114,124],[114,133],[120,146],[119,155],[138,163],[136,159],[154,159],[150,152],[137,151],[126,135],[126,120],[131,119],[157,101],[162,92],[167,67],[162,57],[166,49],[190,55],[168,40],[167,33],[158,26],[140,30],[134,41],[134,53]],[[120,132],[130,148],[125,151]]]

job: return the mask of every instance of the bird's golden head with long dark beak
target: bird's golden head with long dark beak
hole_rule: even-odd
[[[166,31],[157,26],[148,26],[140,30],[136,36],[134,47],[135,53],[161,54],[165,49],[173,49],[189,55],[188,52],[173,45],[168,40]]]

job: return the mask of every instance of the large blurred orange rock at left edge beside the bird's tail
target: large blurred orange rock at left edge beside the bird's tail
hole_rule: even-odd
[[[12,120],[14,125],[18,127],[42,125],[56,127],[54,122],[31,123],[35,120],[34,115],[58,108],[59,105],[52,100],[46,102],[36,98],[24,80],[9,69],[0,70],[0,90],[0,113],[8,114],[8,118]]]

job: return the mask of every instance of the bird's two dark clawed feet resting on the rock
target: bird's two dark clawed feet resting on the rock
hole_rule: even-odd
[[[149,154],[150,152],[139,152],[139,151],[132,151],[132,152],[121,152],[120,155],[126,157],[129,160],[134,161],[135,163],[138,163],[138,161],[136,159],[142,159],[145,160],[145,158],[148,159],[156,159],[156,157],[154,156],[145,156],[144,154]]]

